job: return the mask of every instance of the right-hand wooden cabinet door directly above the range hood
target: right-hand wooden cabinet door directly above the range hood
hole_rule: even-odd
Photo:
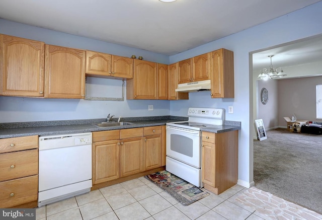
[[[192,58],[193,81],[210,80],[210,53]]]

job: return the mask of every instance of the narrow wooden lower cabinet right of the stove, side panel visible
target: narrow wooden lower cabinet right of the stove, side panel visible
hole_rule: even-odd
[[[202,131],[202,182],[204,188],[220,194],[237,183],[238,131]]]

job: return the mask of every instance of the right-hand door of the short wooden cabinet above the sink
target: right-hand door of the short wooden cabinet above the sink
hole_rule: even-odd
[[[132,79],[133,78],[133,59],[123,56],[112,55],[111,76]]]

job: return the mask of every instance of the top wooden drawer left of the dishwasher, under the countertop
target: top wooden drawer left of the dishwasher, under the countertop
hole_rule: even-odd
[[[38,148],[38,135],[0,139],[0,153]]]

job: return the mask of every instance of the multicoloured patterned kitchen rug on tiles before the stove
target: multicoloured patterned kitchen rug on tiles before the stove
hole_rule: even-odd
[[[176,175],[164,170],[144,176],[158,187],[166,190],[178,202],[189,205],[201,198],[210,195],[209,192],[188,183]]]

